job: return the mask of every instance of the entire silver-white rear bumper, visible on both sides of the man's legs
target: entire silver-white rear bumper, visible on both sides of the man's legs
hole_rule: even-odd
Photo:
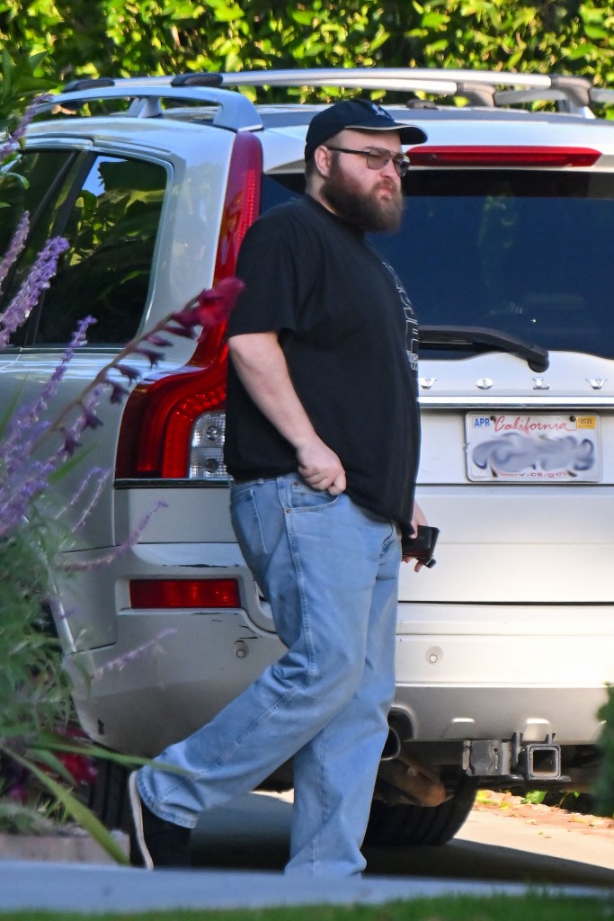
[[[133,577],[228,576],[243,607],[130,606]],[[63,622],[64,647],[79,717],[120,751],[155,754],[190,734],[284,651],[235,542],[139,543],[67,589],[75,614]],[[395,705],[414,740],[518,734],[594,745],[612,681],[614,605],[400,603]]]

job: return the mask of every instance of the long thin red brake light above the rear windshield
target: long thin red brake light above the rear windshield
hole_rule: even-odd
[[[592,167],[601,154],[590,147],[424,145],[407,156],[415,167]]]

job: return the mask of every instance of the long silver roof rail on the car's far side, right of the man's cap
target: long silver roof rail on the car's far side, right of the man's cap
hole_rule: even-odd
[[[500,71],[431,67],[322,67],[296,70],[239,71],[223,74],[224,87],[346,87],[423,91],[463,96],[477,105],[555,100],[560,108],[587,115],[590,82],[561,74],[512,74]],[[511,87],[505,92],[502,87]]]

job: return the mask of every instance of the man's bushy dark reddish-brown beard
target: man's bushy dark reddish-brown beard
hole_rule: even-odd
[[[403,216],[402,193],[399,190],[389,202],[382,202],[376,198],[376,191],[374,189],[371,196],[356,190],[337,159],[331,165],[330,176],[322,185],[320,194],[335,213],[353,227],[365,232],[387,230],[394,233],[399,229]]]

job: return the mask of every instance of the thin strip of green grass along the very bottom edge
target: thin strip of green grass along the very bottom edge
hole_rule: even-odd
[[[0,894],[0,904],[2,895]],[[111,912],[2,912],[0,921],[612,921],[614,891],[608,898],[539,895],[442,896],[385,905],[307,905],[235,911],[164,911],[123,915]]]

